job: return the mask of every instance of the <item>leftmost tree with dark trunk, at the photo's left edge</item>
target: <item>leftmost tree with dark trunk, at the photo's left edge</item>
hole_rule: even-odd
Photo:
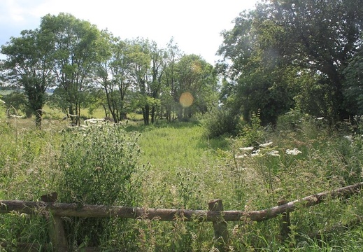
[[[1,46],[1,53],[7,56],[2,67],[7,70],[7,82],[24,89],[28,106],[36,116],[36,127],[40,129],[47,101],[45,91],[54,80],[52,38],[47,31],[38,29],[24,30],[20,34]]]

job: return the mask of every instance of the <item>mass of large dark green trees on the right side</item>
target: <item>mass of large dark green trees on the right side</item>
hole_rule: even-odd
[[[229,117],[263,124],[297,109],[329,123],[362,115],[360,0],[271,0],[223,31],[221,99]]]

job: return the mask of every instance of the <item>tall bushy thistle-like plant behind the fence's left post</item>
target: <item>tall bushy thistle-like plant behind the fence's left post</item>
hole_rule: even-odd
[[[59,157],[61,202],[139,204],[142,174],[137,140],[135,132],[127,133],[122,127],[111,125],[65,134]],[[120,231],[122,225],[124,230]],[[66,223],[66,232],[73,246],[116,246],[109,242],[112,237],[107,237],[115,234],[115,229],[120,236],[125,235],[126,225],[127,221],[115,219],[73,218]],[[123,246],[120,239],[117,242],[118,246]]]

